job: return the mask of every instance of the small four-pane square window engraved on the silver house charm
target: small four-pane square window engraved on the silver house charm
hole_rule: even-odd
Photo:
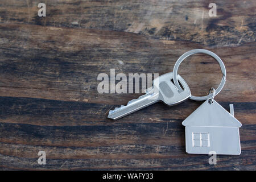
[[[193,147],[210,147],[210,134],[192,132],[192,145]]]

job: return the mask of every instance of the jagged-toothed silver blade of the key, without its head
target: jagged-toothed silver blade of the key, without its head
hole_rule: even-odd
[[[119,119],[125,115],[134,113],[135,111],[147,107],[148,105],[158,102],[158,93],[147,93],[140,96],[137,99],[131,100],[126,106],[115,107],[114,110],[109,111],[108,118],[110,119]]]

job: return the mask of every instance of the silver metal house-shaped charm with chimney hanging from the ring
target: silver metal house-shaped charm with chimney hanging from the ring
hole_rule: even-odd
[[[214,100],[205,101],[182,125],[185,126],[189,154],[209,154],[210,151],[225,155],[241,153],[239,127],[242,124]]]

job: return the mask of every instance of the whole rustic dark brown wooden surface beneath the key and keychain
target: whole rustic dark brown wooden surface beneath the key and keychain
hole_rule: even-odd
[[[256,2],[216,1],[209,17],[210,2],[1,0],[0,169],[255,170]],[[98,74],[110,68],[160,75],[195,48],[224,61],[216,100],[233,103],[242,123],[242,154],[217,156],[217,165],[185,153],[181,122],[202,102],[159,103],[113,122],[108,111],[141,94],[97,92]],[[221,79],[206,55],[186,59],[179,73],[197,96]]]

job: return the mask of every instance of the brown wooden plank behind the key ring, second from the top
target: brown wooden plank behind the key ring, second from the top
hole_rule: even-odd
[[[32,94],[36,98],[53,100],[126,104],[123,94],[97,93],[100,73],[110,75],[110,69],[114,68],[116,73],[126,75],[161,75],[170,72],[184,52],[199,48],[196,44],[166,44],[126,32],[51,30],[51,27],[24,27],[22,24],[0,24],[0,30],[10,39],[5,44],[8,47],[0,48],[3,57],[0,62],[1,96],[12,97],[31,97]],[[217,97],[220,101],[255,101],[256,84],[251,78],[255,77],[256,65],[252,47],[255,44],[210,49],[225,61],[228,71],[227,84]],[[216,61],[208,56],[192,56],[186,63],[181,64],[180,75],[187,80],[192,93],[203,96],[211,86],[217,87],[221,72]],[[130,100],[134,96],[127,98]]]

